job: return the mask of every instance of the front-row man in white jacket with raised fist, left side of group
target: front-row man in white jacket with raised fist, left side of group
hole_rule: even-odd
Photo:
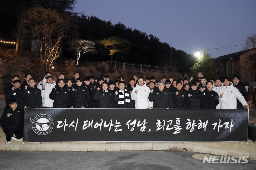
[[[42,85],[41,95],[43,98],[42,107],[43,108],[52,108],[54,100],[49,98],[49,94],[52,92],[52,89],[55,87],[55,82],[53,81],[52,76],[48,76],[47,81]]]

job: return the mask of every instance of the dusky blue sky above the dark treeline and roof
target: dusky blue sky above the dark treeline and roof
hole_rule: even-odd
[[[121,22],[190,54],[243,44],[256,33],[256,0],[77,0],[75,11]],[[207,52],[216,58],[243,48]]]

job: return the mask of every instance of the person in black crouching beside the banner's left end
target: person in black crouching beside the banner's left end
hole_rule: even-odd
[[[0,124],[6,136],[6,143],[11,144],[11,139],[21,141],[23,137],[23,112],[17,108],[17,101],[11,99],[10,108],[4,111],[1,116]]]

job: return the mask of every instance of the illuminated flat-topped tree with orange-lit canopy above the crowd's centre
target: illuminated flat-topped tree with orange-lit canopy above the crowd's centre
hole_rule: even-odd
[[[127,53],[131,45],[130,42],[120,37],[108,37],[97,43],[110,51],[111,62],[113,61],[113,55],[115,53]]]

